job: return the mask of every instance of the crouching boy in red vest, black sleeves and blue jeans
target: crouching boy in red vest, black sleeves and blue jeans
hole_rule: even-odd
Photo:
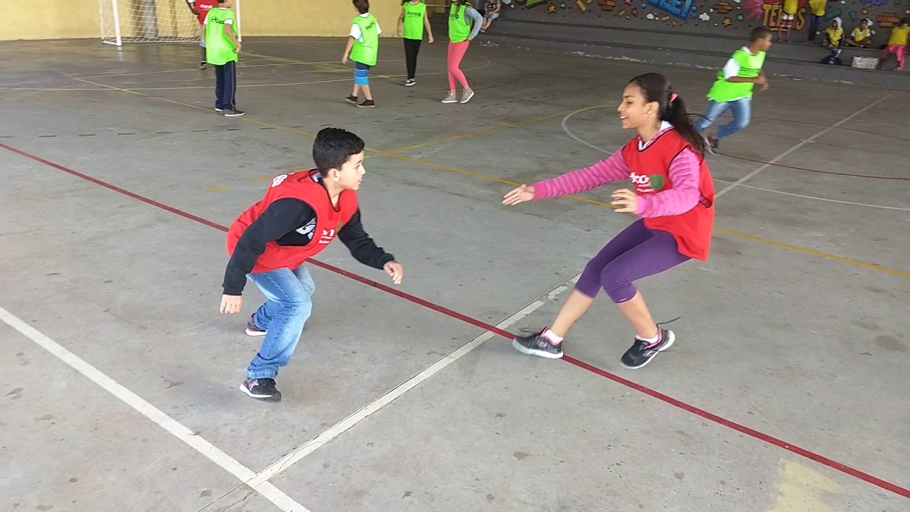
[[[338,236],[351,255],[401,282],[401,265],[369,238],[360,223],[357,193],[365,169],[364,142],[340,128],[324,128],[313,142],[316,169],[272,179],[265,197],[240,214],[227,231],[221,312],[236,313],[249,279],[268,299],[249,317],[247,334],[265,336],[240,389],[278,402],[278,368],[288,364],[312,307],[315,283],[304,262]]]

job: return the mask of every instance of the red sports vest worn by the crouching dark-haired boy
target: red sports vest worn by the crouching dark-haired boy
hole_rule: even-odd
[[[328,247],[329,242],[335,239],[339,230],[357,212],[357,194],[353,190],[342,191],[339,196],[338,210],[336,210],[329,199],[329,192],[319,184],[318,178],[318,170],[303,170],[282,174],[272,179],[265,197],[241,213],[227,230],[228,256],[234,252],[243,231],[268,209],[268,205],[284,198],[302,200],[316,211],[316,228],[313,230],[313,238],[304,246],[285,246],[278,245],[276,241],[268,241],[266,250],[258,257],[253,271],[296,269],[304,261]]]

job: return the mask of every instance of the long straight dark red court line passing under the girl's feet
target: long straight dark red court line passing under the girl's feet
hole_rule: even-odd
[[[23,157],[25,157],[27,159],[33,159],[37,162],[41,162],[47,166],[53,167],[54,169],[62,170],[68,174],[76,176],[77,178],[86,179],[88,181],[91,181],[92,183],[95,183],[96,185],[100,185],[101,187],[104,187],[106,189],[114,190],[115,192],[124,194],[127,197],[133,198],[135,200],[140,200],[146,204],[152,205],[156,208],[160,208],[161,210],[169,211],[169,212],[174,213],[175,215],[179,215],[180,217],[183,217],[185,219],[195,220],[196,222],[198,222],[200,224],[204,224],[208,227],[215,228],[217,230],[227,231],[227,227],[222,226],[221,224],[217,224],[216,222],[212,222],[211,220],[205,220],[201,217],[197,217],[196,215],[193,215],[192,213],[188,213],[183,210],[177,210],[176,208],[174,208],[172,206],[167,206],[166,204],[160,203],[157,200],[150,200],[144,196],[140,196],[139,194],[130,192],[129,190],[121,189],[121,188],[117,187],[116,185],[107,183],[106,181],[92,178],[79,171],[76,171],[73,169],[68,169],[62,165],[42,159],[40,157],[36,157],[35,155],[32,155],[31,153],[26,153],[25,151],[23,151],[21,149],[12,148],[3,143],[0,143],[0,148],[5,148],[18,155],[22,155]],[[335,273],[338,273],[340,275],[353,279],[354,281],[362,282],[363,284],[372,286],[373,288],[377,288],[383,292],[391,293],[392,295],[395,295],[401,299],[405,299],[406,301],[420,304],[421,306],[428,308],[432,311],[440,312],[442,314],[450,316],[451,318],[458,319],[464,323],[470,323],[471,325],[480,327],[481,329],[490,331],[491,333],[497,333],[500,336],[502,336],[503,338],[506,338],[508,340],[511,340],[513,337],[513,335],[511,333],[507,333],[506,331],[503,331],[493,325],[490,325],[489,323],[485,323],[485,322],[482,322],[475,318],[471,318],[470,316],[468,316],[466,314],[462,314],[460,312],[452,311],[449,308],[441,306],[440,304],[436,304],[436,303],[430,302],[430,301],[425,301],[425,300],[421,299],[420,297],[411,295],[410,293],[401,292],[388,285],[369,280],[369,279],[359,276],[358,274],[355,274],[353,272],[345,271],[345,270],[339,269],[338,267],[335,267],[333,265],[329,265],[329,263],[324,263],[322,261],[316,261],[316,260],[309,260],[309,261],[311,263],[313,263],[314,265],[317,265],[323,269],[326,269],[328,271],[333,271]],[[792,445],[790,443],[787,443],[784,440],[774,437],[773,435],[763,434],[762,432],[753,430],[752,428],[749,428],[748,426],[738,424],[732,420],[728,420],[719,415],[714,415],[712,413],[709,413],[703,409],[696,407],[693,404],[687,404],[685,402],[682,402],[682,400],[678,400],[676,398],[673,398],[672,396],[662,394],[661,392],[654,390],[650,387],[644,386],[642,384],[634,383],[628,379],[622,378],[621,376],[619,376],[617,374],[611,374],[610,372],[607,372],[606,370],[602,370],[601,368],[598,368],[597,366],[594,366],[592,364],[587,364],[587,363],[580,361],[578,359],[575,359],[573,357],[563,356],[562,361],[569,363],[569,364],[574,364],[575,366],[578,366],[579,368],[587,370],[587,371],[591,372],[592,374],[598,374],[604,378],[612,380],[613,382],[615,382],[617,384],[622,384],[626,387],[634,389],[635,391],[652,396],[653,398],[656,398],[665,404],[670,404],[674,407],[682,409],[683,411],[692,413],[693,415],[701,416],[704,419],[713,421],[714,423],[716,423],[718,425],[723,425],[723,426],[726,426],[727,428],[735,430],[736,432],[739,432],[741,434],[752,436],[755,439],[768,443],[769,445],[775,445],[775,446],[784,448],[784,450],[793,452],[794,454],[796,454],[798,456],[804,456],[805,458],[812,460],[814,462],[817,462],[818,464],[822,464],[824,466],[828,466],[828,467],[831,467],[832,469],[840,471],[840,472],[844,473],[845,475],[854,476],[856,478],[859,478],[860,480],[863,480],[864,482],[867,482],[874,486],[879,486],[879,487],[885,489],[886,491],[893,492],[896,495],[910,498],[910,489],[907,489],[902,486],[898,486],[896,484],[883,480],[877,476],[869,475],[868,473],[864,473],[863,471],[860,471],[859,469],[855,469],[854,467],[839,463],[828,457],[818,455],[810,450],[806,450],[805,448],[801,448],[799,446]]]

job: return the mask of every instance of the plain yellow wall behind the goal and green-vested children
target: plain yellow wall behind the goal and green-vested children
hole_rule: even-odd
[[[156,1],[159,18],[177,13],[182,18],[181,32],[193,29],[184,0]],[[349,0],[240,0],[239,4],[244,36],[346,36],[357,15]],[[118,5],[121,20],[127,20],[131,0],[118,0]],[[379,18],[383,36],[394,36],[400,5],[399,0],[371,0],[370,12]],[[0,40],[100,38],[99,20],[97,0],[0,0]],[[126,32],[126,24],[121,27]]]

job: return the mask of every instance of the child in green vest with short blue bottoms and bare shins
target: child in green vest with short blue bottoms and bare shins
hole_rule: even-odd
[[[369,68],[376,66],[382,29],[379,28],[376,16],[369,14],[369,0],[353,0],[352,4],[359,15],[351,23],[348,46],[341,57],[341,62],[348,62],[349,56],[354,61],[354,92],[350,93],[348,101],[356,105],[362,88],[363,96],[367,99],[358,108],[375,108],[376,103],[369,92]]]

